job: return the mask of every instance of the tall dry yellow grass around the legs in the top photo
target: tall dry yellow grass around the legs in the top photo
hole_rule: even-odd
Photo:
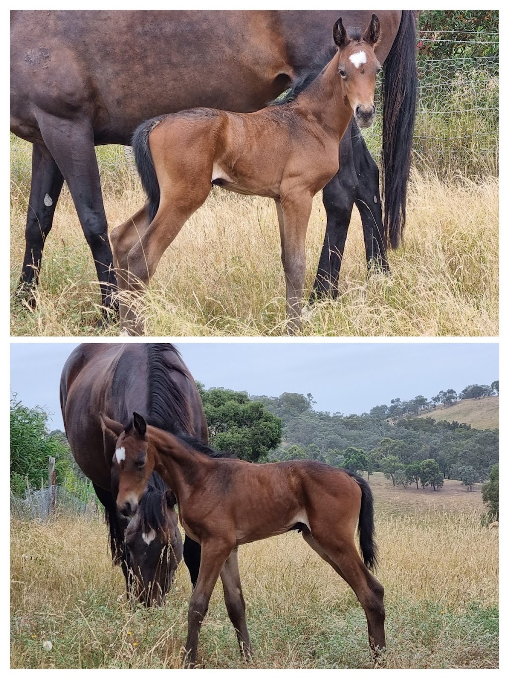
[[[123,180],[124,181],[124,180]],[[108,184],[110,186],[110,184]],[[106,191],[111,227],[143,194],[132,182]],[[24,251],[25,189],[13,188],[12,291]],[[405,244],[390,254],[392,277],[366,282],[356,210],[337,300],[322,301],[304,335],[497,335],[498,182],[444,184],[413,176]],[[307,293],[322,247],[325,211],[314,200],[307,237]],[[98,329],[100,297],[88,246],[64,193],[45,247],[37,310],[13,297],[13,335],[117,335]],[[306,294],[307,294],[306,293]],[[280,335],[284,276],[274,202],[214,189],[164,255],[145,295],[146,334]]]

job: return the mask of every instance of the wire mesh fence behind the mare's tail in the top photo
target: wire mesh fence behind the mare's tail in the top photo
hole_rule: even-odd
[[[498,34],[419,31],[413,166],[439,177],[498,174]],[[440,58],[427,54],[429,45]],[[448,56],[444,56],[447,54]],[[381,120],[365,133],[379,160]]]

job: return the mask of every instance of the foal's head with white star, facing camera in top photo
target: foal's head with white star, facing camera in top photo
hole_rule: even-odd
[[[334,25],[333,36],[338,47],[337,73],[342,81],[343,97],[352,107],[360,128],[369,127],[375,118],[373,99],[381,66],[374,47],[379,35],[380,22],[376,14],[371,17],[364,35],[356,29],[349,35],[341,19]]]

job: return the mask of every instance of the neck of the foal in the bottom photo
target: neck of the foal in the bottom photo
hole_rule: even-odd
[[[150,430],[151,443],[157,452],[154,469],[181,502],[191,492],[191,486],[210,471],[213,461],[193,452],[170,433],[155,427]]]

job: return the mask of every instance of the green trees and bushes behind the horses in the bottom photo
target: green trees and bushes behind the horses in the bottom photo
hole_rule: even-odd
[[[469,385],[459,397],[483,398],[477,395],[478,386]],[[429,402],[421,396],[392,399],[390,406],[378,405],[369,413],[343,415],[314,410],[312,394],[250,397],[247,392],[205,389],[199,383],[198,388],[210,443],[250,462],[319,460],[368,477],[380,471],[394,486],[405,488],[438,490],[446,478],[461,480],[468,490],[487,479],[495,485],[491,475],[498,461],[498,430],[417,418],[417,405],[404,404],[423,409]],[[491,390],[498,392],[498,382]],[[23,494],[27,484],[39,487],[50,456],[56,458],[57,483],[79,488],[84,481],[64,433],[49,432],[47,422],[43,409],[29,409],[12,399],[11,487],[16,494]]]

